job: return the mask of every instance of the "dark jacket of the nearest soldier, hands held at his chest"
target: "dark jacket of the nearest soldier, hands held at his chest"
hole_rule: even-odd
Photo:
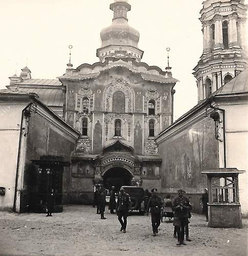
[[[188,212],[191,209],[192,206],[187,197],[175,198],[172,206],[172,210],[174,211],[174,217],[188,218]]]

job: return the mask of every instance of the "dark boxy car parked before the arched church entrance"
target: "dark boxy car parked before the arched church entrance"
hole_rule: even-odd
[[[131,211],[138,210],[142,214],[145,213],[144,189],[136,186],[122,186],[131,199]]]

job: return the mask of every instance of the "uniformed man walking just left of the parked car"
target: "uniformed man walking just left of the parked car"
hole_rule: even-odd
[[[121,223],[120,231],[123,230],[123,233],[126,233],[127,215],[128,215],[128,209],[130,208],[131,208],[131,199],[129,195],[125,192],[124,188],[121,188],[120,194],[117,200],[116,213],[118,215],[118,220]]]

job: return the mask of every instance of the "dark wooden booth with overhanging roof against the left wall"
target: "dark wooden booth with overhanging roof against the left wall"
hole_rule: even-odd
[[[41,156],[39,160],[31,160],[39,166],[37,170],[37,191],[35,193],[35,211],[46,212],[49,191],[53,188],[55,195],[54,212],[61,212],[62,182],[64,166],[70,162],[64,161],[62,156]]]

